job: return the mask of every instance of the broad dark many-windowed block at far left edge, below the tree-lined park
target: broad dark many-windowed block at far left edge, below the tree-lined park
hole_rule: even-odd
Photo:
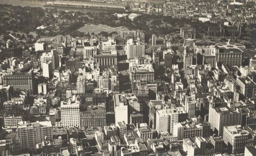
[[[11,85],[13,89],[21,89],[21,91],[35,91],[34,75],[29,73],[8,74],[3,76],[3,84]]]

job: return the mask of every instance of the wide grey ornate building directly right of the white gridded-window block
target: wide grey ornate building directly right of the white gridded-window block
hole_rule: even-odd
[[[104,127],[106,126],[106,110],[102,106],[87,106],[85,111],[80,112],[81,127]]]

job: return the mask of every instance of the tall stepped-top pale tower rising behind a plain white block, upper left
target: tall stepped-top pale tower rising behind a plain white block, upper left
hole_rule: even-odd
[[[56,50],[51,50],[51,52],[48,53],[42,53],[40,60],[41,64],[42,62],[52,62],[53,70],[59,67],[59,56]]]

